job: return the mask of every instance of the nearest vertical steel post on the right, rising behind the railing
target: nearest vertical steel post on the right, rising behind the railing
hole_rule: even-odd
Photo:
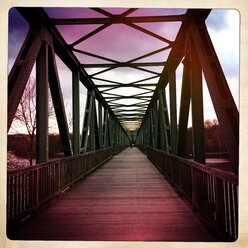
[[[196,162],[205,164],[202,70],[193,42],[191,44],[191,60],[193,157]]]

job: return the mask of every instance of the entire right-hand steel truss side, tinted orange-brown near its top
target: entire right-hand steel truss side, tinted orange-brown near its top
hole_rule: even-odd
[[[191,101],[193,122],[193,156],[194,160],[205,163],[204,147],[204,119],[203,119],[203,95],[202,72],[206,78],[213,106],[220,124],[221,133],[225,140],[229,158],[232,164],[238,168],[238,110],[228,88],[228,84],[213,44],[207,32],[205,19],[210,10],[188,11],[189,18],[183,22],[177,35],[166,66],[159,79],[157,88],[144,116],[137,141],[144,144],[144,130],[151,133],[150,145],[156,148],[156,133],[154,130],[154,103],[161,86],[169,84],[170,96],[170,141],[171,153],[184,155],[189,107]],[[179,110],[179,123],[177,125],[176,107],[176,77],[175,70],[184,58],[183,82],[181,89],[181,103]],[[160,106],[160,105],[159,105]],[[147,118],[151,127],[147,125]],[[159,114],[161,118],[161,114]],[[160,125],[163,125],[161,123]],[[177,128],[178,126],[178,128]],[[149,129],[148,129],[149,128]],[[142,130],[142,131],[141,131]],[[150,131],[149,131],[150,130]],[[161,132],[161,130],[160,130]],[[164,134],[163,132],[160,133]],[[139,137],[140,136],[140,137]],[[166,140],[164,140],[166,141]],[[163,144],[160,144],[162,147]],[[161,149],[161,148],[160,148]]]

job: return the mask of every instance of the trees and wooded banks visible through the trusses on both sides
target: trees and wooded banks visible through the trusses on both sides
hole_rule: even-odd
[[[51,129],[49,132],[49,158],[56,158],[63,152],[63,147],[59,134],[53,133],[52,128],[56,118],[50,95],[48,115],[50,120],[49,129]],[[68,124],[70,127],[72,126],[71,119],[69,116]],[[12,133],[15,134],[8,135],[8,151],[19,158],[27,159],[30,166],[33,165],[36,157],[36,124],[36,82],[35,79],[30,78],[11,126]],[[23,134],[23,131],[20,131],[20,127],[24,129],[25,134]],[[220,154],[226,152],[217,120],[206,120],[204,130],[206,153]],[[184,152],[185,157],[192,155],[192,128],[187,130]],[[18,163],[18,160],[16,161]]]

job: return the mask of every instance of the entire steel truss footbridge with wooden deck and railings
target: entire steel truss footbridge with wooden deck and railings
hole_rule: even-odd
[[[62,14],[54,14],[56,10],[48,8],[17,8],[17,11],[28,23],[29,31],[9,74],[8,128],[35,66],[37,164],[8,172],[8,237],[15,240],[236,240],[239,113],[205,24],[211,10],[135,16],[137,9],[116,14],[91,8],[84,9],[82,13],[86,16],[80,17],[71,15],[74,12],[63,17],[68,9]],[[87,16],[89,11],[101,16]],[[174,40],[138,25],[167,22],[180,23]],[[71,34],[76,27],[85,25],[97,26],[69,42],[66,32],[69,30]],[[112,25],[127,26],[164,42],[164,46],[129,59],[126,56],[129,51],[125,54],[122,51],[120,60],[97,53],[105,49],[102,46],[95,52],[83,49],[81,43]],[[131,34],[125,34],[126,42],[132,40]],[[114,49],[111,42],[109,46]],[[168,52],[166,58],[160,54],[164,51]],[[91,57],[94,63],[82,61],[79,54]],[[153,56],[157,58],[159,54],[162,62],[154,60]],[[72,75],[72,134],[57,57]],[[151,61],[143,61],[147,58]],[[183,74],[178,112],[179,65]],[[161,66],[160,72],[154,69]],[[92,68],[98,71],[90,73]],[[138,78],[140,72],[149,75],[122,82],[117,76],[108,78],[105,74],[123,68],[136,71]],[[205,152],[202,73],[228,154],[227,166],[210,163]],[[87,88],[87,99],[80,131],[81,84]],[[48,159],[48,88],[64,151],[64,157],[55,160]],[[190,113],[192,154],[189,156],[186,139]]]

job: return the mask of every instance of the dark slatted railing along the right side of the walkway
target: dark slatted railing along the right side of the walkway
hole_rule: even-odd
[[[144,149],[143,149],[144,150]],[[238,237],[238,177],[194,161],[146,147],[149,160],[199,211],[223,240]]]

